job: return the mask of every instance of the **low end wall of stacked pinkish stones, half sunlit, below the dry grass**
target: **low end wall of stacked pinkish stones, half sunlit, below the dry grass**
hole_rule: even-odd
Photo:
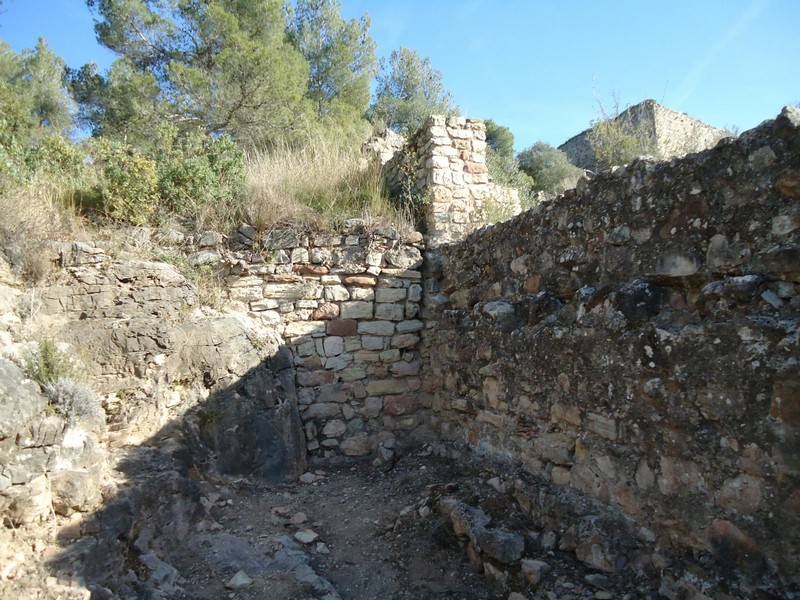
[[[391,451],[419,435],[422,235],[353,220],[339,234],[243,226],[232,242],[240,249],[210,234],[190,260],[224,265],[228,304],[292,351],[311,455]]]

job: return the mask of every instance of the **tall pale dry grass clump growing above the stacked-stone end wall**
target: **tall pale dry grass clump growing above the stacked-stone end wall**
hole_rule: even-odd
[[[305,224],[335,228],[351,217],[395,220],[380,166],[359,148],[318,136],[302,147],[253,152],[246,164],[243,217],[256,229]]]

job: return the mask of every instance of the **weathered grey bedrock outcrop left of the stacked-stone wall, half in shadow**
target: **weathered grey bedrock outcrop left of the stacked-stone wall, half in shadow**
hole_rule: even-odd
[[[41,311],[109,395],[112,444],[146,441],[199,409],[181,423],[197,434],[198,456],[217,453],[206,466],[271,480],[305,469],[291,360],[277,334],[246,315],[190,313],[194,287],[170,265],[114,262],[86,244],[61,254],[75,266],[38,293]]]

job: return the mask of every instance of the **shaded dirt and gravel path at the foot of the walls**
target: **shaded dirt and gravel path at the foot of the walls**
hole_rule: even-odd
[[[181,574],[174,597],[505,598],[429,506],[458,477],[449,461],[407,457],[390,471],[317,471],[309,483],[205,483],[218,525],[200,527],[166,559]],[[304,533],[307,543],[297,539]],[[226,589],[239,571],[252,583]]]

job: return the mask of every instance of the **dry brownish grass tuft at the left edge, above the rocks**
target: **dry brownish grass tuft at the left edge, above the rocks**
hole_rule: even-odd
[[[0,253],[26,280],[49,273],[51,240],[85,237],[73,194],[70,182],[40,175],[0,195]]]

